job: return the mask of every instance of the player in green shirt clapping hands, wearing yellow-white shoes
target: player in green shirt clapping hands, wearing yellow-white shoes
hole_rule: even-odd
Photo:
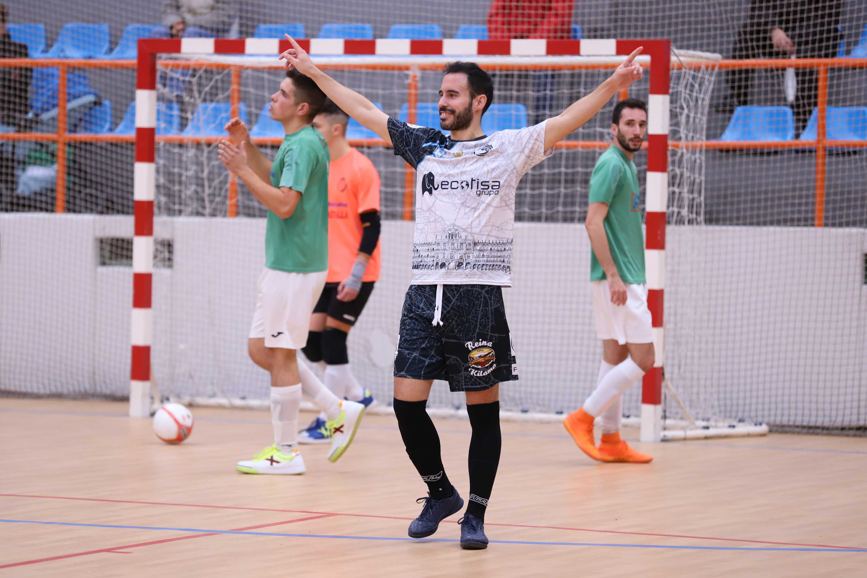
[[[248,474],[305,471],[297,448],[302,391],[328,418],[331,462],[349,447],[364,413],[362,404],[338,399],[296,358],[328,274],[329,152],[311,126],[324,102],[316,83],[290,70],[271,95],[269,114],[286,132],[273,163],[252,143],[240,119],[226,124],[231,140],[219,144],[219,159],[268,209],[265,267],[247,348],[251,360],[271,373],[274,443],[238,462],[238,471]]]

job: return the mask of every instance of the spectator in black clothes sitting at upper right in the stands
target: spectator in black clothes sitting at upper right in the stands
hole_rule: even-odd
[[[837,54],[842,33],[840,12],[843,0],[751,0],[750,13],[740,28],[732,58],[832,58]],[[816,78],[813,68],[796,68],[798,93],[792,105],[795,136],[806,126],[816,107]],[[730,101],[722,110],[746,105],[753,70],[730,70],[727,76]]]

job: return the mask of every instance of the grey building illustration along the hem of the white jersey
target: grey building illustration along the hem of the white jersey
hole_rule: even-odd
[[[476,241],[460,229],[448,229],[433,241],[413,245],[414,270],[512,272],[512,239]]]

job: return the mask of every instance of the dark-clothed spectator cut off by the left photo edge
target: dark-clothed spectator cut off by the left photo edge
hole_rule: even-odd
[[[6,29],[9,10],[0,4],[0,58],[27,58],[27,45],[12,42]],[[27,94],[32,68],[0,68],[0,132],[20,131],[29,111]],[[0,211],[8,210],[6,200],[15,194],[15,154],[12,142],[0,143]]]

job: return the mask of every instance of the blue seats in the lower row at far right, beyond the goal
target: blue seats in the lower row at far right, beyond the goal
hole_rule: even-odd
[[[814,108],[799,140],[816,140],[818,109]],[[794,140],[795,120],[790,107],[737,107],[720,140]],[[867,107],[828,107],[828,140],[867,140]]]

